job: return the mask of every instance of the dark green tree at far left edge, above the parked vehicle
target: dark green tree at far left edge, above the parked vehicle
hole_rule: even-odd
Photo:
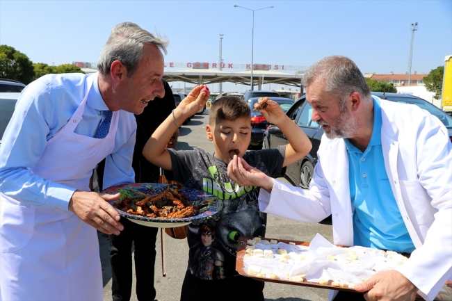
[[[0,77],[22,81],[27,85],[35,77],[33,63],[14,47],[0,45]]]

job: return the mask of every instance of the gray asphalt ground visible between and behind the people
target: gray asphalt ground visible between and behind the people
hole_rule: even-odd
[[[208,122],[209,108],[207,108],[204,114],[192,117],[191,122],[188,122],[187,125],[184,125],[180,129],[181,136],[179,137],[177,149],[194,149],[198,147],[210,153],[215,152],[213,143],[207,140],[206,137],[205,126]],[[284,178],[280,179],[286,181]],[[287,239],[290,241],[311,241],[318,233],[332,242],[332,227],[328,224],[328,222],[323,224],[307,224],[305,222],[279,218],[275,215],[268,215],[266,237]],[[98,236],[104,281],[104,300],[112,300],[111,266],[108,257],[110,251],[109,240],[106,234],[98,232]],[[166,263],[166,277],[162,276],[161,234],[159,231],[156,242],[157,256],[154,269],[154,286],[157,291],[156,300],[179,300],[188,262],[188,244],[186,239],[177,240],[166,235],[164,232],[163,242],[165,245],[163,258]],[[131,301],[138,300],[135,294],[135,278],[134,272]],[[266,282],[264,296],[266,301],[320,301],[328,300],[328,290]]]

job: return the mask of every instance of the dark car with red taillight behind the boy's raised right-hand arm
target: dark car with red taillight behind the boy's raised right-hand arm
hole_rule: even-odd
[[[262,147],[262,137],[264,135],[264,131],[268,127],[268,122],[265,120],[264,116],[262,116],[259,111],[253,111],[255,108],[255,104],[260,97],[253,97],[246,101],[248,106],[251,109],[251,142],[250,147]],[[268,97],[269,99],[276,101],[280,104],[282,110],[287,112],[291,106],[295,103],[290,98],[284,97]]]

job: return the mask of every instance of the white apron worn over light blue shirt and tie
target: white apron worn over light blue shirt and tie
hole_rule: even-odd
[[[106,138],[74,133],[86,97],[69,122],[47,141],[31,172],[89,191],[97,163],[111,154],[119,111]],[[102,268],[95,228],[72,211],[33,208],[0,193],[0,300],[102,300]]]

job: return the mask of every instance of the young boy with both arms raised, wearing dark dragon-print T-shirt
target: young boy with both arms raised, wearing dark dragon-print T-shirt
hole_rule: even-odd
[[[259,106],[266,104],[266,108],[259,112],[268,122],[280,127],[289,145],[246,152],[251,139],[250,107],[239,97],[221,97],[211,106],[206,127],[207,139],[213,141],[216,149],[214,154],[202,149],[166,149],[166,142],[179,124],[206,103],[209,92],[200,92],[201,89],[202,86],[195,87],[181,101],[143,149],[143,156],[166,170],[168,179],[213,193],[223,202],[220,213],[188,225],[190,251],[181,300],[264,301],[264,282],[240,276],[235,270],[239,237],[265,236],[266,214],[259,211],[259,188],[238,186],[227,177],[227,164],[239,156],[271,177],[282,177],[282,168],[305,156],[312,145],[275,101],[264,98],[259,99]],[[205,223],[215,239],[211,247],[200,252],[203,241],[199,229]]]

